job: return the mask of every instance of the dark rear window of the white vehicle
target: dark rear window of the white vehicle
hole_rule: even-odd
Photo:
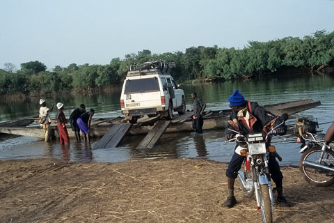
[[[127,79],[124,93],[143,93],[160,91],[159,82],[156,77],[145,79]]]

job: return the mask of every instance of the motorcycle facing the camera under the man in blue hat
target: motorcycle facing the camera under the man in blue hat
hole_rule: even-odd
[[[287,114],[283,114],[280,117],[282,123],[276,125],[265,135],[262,132],[257,132],[244,136],[240,132],[228,128],[228,124],[226,124],[228,130],[236,133],[234,139],[228,141],[236,141],[242,147],[240,155],[246,157],[245,170],[238,172],[238,178],[246,190],[247,197],[253,197],[255,194],[257,210],[261,209],[263,222],[273,222],[274,199],[268,162],[269,153],[276,153],[276,148],[270,145],[270,139],[273,135],[277,135],[276,128],[283,125],[287,118]]]

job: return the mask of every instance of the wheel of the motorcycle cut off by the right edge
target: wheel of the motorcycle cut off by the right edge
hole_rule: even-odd
[[[308,181],[311,185],[317,187],[327,187],[334,183],[334,174],[331,171],[326,171],[322,169],[317,169],[315,167],[310,167],[303,164],[303,161],[310,161],[318,163],[319,157],[321,155],[321,147],[309,148],[303,155],[301,155],[301,160],[299,160],[299,170],[303,175],[303,178]],[[329,166],[329,162],[334,163],[334,152],[327,150],[324,153],[323,162],[321,164]],[[329,162],[328,162],[329,161]]]

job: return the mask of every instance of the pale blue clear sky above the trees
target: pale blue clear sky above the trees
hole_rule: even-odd
[[[0,68],[105,65],[149,49],[234,47],[334,31],[334,0],[0,0]]]

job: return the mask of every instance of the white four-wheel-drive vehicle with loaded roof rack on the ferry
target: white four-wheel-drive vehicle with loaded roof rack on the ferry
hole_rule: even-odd
[[[130,123],[136,123],[145,115],[171,120],[173,111],[184,114],[184,91],[170,76],[173,63],[147,62],[144,65],[127,72],[120,95],[122,114]]]

